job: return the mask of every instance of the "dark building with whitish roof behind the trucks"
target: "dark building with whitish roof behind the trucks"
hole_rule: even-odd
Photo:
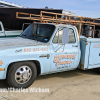
[[[40,14],[41,11],[48,11],[67,15],[76,15],[70,11],[54,8],[27,8],[14,3],[8,3],[0,0],[0,21],[2,21],[5,28],[8,29],[22,29],[23,23],[32,23],[32,20],[17,19],[16,12]],[[59,16],[63,17],[63,16]]]

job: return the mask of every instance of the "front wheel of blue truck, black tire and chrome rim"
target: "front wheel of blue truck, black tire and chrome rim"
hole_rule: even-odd
[[[7,73],[7,83],[10,87],[27,88],[37,76],[36,65],[33,62],[17,62],[10,66]]]

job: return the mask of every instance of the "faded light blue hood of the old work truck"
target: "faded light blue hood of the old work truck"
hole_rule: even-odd
[[[37,45],[42,45],[42,43],[21,37],[0,39],[0,50]]]

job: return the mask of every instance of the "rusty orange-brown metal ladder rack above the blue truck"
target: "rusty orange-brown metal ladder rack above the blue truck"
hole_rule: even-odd
[[[40,15],[16,12],[16,18],[33,20],[34,22],[40,21],[41,23],[49,22],[49,23],[56,23],[56,24],[79,25],[79,30],[78,30],[79,36],[81,33],[82,25],[92,26],[93,38],[94,38],[95,26],[96,25],[100,26],[100,23],[96,22],[96,21],[100,21],[100,19],[83,17],[83,16],[65,15],[60,13],[46,12],[46,11],[41,11]]]

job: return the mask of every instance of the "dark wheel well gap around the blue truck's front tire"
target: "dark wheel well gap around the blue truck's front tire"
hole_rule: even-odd
[[[22,62],[25,62],[25,61],[22,61]],[[41,67],[40,67],[40,62],[37,61],[37,60],[31,60],[31,62],[35,63],[36,65],[36,68],[37,68],[37,75],[39,75],[41,73]],[[10,63],[8,68],[7,68],[7,74],[8,74],[8,71],[10,69],[10,66],[12,66],[14,63],[18,63],[18,62],[13,62],[13,63]],[[7,76],[6,74],[6,76]]]

